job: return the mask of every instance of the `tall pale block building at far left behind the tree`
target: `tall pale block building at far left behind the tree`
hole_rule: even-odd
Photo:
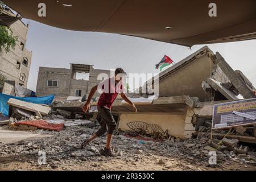
[[[6,10],[13,14],[11,10]],[[13,14],[14,15],[14,14]],[[24,24],[22,20],[16,20],[10,25],[14,36],[18,37],[15,49],[0,52],[0,73],[6,78],[5,85],[0,92],[12,94],[15,86],[20,85],[27,88],[28,74],[32,61],[32,52],[26,49],[27,32],[29,24]]]

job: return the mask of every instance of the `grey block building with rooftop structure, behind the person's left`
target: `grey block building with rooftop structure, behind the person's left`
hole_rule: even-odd
[[[103,73],[104,75],[98,76]],[[82,77],[79,77],[82,75]],[[55,100],[79,98],[88,94],[90,89],[110,76],[110,71],[94,69],[92,65],[71,64],[70,69],[40,67],[36,94],[47,96],[55,94]]]

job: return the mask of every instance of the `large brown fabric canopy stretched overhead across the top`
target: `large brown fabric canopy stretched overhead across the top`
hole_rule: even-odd
[[[161,42],[195,44],[256,38],[255,0],[2,0],[23,18],[76,31],[109,32]],[[46,17],[38,16],[39,3]],[[171,27],[168,30],[166,27]]]

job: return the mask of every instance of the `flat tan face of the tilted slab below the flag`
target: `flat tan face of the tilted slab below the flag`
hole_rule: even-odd
[[[200,101],[207,100],[208,97],[201,88],[201,84],[210,77],[212,68],[213,61],[207,54],[204,54],[161,80],[159,96],[191,96],[199,97]]]

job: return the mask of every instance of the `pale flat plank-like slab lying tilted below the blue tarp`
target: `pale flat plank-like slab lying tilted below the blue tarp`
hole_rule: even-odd
[[[49,111],[51,111],[50,107],[42,106],[39,104],[33,104],[30,102],[24,102],[20,100],[16,100],[15,98],[10,98],[10,100],[7,102],[10,106],[18,107],[21,109],[29,110],[32,112],[39,111],[40,114],[48,114]]]

